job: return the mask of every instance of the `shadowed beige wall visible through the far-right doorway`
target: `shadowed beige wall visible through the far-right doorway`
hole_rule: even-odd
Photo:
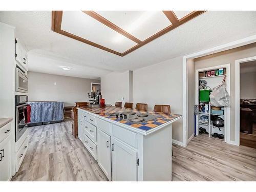
[[[256,99],[256,72],[240,73],[240,98]]]

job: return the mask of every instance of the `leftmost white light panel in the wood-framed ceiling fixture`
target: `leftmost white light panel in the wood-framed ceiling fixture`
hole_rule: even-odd
[[[63,11],[61,30],[119,53],[137,45],[136,42],[103,25],[82,11]]]

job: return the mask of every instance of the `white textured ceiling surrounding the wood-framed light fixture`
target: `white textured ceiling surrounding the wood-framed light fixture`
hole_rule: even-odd
[[[98,78],[256,34],[256,11],[207,11],[124,57],[51,31],[51,11],[0,11],[29,51],[29,70]],[[47,58],[46,58],[47,57]],[[69,66],[63,71],[58,66]]]

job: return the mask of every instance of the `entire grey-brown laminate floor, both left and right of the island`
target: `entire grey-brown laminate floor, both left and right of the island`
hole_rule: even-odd
[[[107,181],[71,134],[71,121],[29,127],[28,153],[12,181]],[[256,149],[200,135],[173,145],[173,181],[256,181]]]

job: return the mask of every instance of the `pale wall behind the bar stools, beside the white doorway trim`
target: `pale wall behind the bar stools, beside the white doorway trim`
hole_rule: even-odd
[[[134,103],[169,104],[171,113],[183,112],[183,57],[169,59],[133,72]],[[173,139],[182,142],[182,119],[173,123]]]

